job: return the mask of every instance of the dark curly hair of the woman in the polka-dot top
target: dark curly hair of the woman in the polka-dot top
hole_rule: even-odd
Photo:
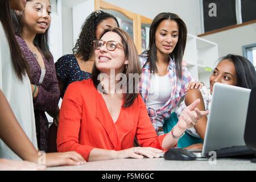
[[[93,40],[96,39],[96,30],[98,24],[103,20],[113,18],[117,22],[115,16],[105,13],[104,11],[93,11],[85,19],[84,24],[82,24],[79,39],[76,41],[76,46],[73,48],[73,54],[80,57],[82,61],[88,61],[93,54]]]

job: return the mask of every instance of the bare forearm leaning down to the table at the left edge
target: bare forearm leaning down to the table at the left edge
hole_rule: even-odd
[[[38,151],[20,127],[11,107],[0,90],[0,138],[23,160],[37,163]]]

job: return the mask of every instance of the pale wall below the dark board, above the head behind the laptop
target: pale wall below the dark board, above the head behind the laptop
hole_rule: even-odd
[[[219,57],[228,53],[235,53],[242,56],[242,46],[256,43],[256,23],[221,31],[203,36],[202,38],[218,44]]]

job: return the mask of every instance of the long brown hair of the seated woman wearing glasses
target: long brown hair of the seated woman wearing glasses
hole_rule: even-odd
[[[111,30],[104,30],[102,32],[101,37],[106,34],[106,32],[115,32],[117,33],[121,39],[122,39],[122,45],[123,50],[125,51],[125,59],[129,61],[129,64],[127,65],[127,68],[123,69],[123,73],[125,73],[127,82],[127,93],[123,94],[123,99],[125,102],[123,103],[123,107],[130,107],[133,105],[134,100],[138,97],[138,84],[139,79],[136,80],[135,77],[133,77],[133,81],[129,81],[130,77],[129,74],[141,75],[141,67],[139,65],[139,56],[138,51],[136,49],[136,46],[133,42],[133,39],[121,28],[113,28]],[[100,80],[98,80],[98,75],[100,75],[100,71],[96,67],[96,63],[93,65],[93,71],[92,71],[92,80],[94,86],[97,88],[100,84]],[[131,85],[131,82],[133,85]]]

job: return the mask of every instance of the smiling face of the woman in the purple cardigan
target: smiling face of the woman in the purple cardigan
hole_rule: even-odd
[[[49,0],[28,1],[23,13],[23,28],[35,34],[44,34],[51,24],[50,14]]]

